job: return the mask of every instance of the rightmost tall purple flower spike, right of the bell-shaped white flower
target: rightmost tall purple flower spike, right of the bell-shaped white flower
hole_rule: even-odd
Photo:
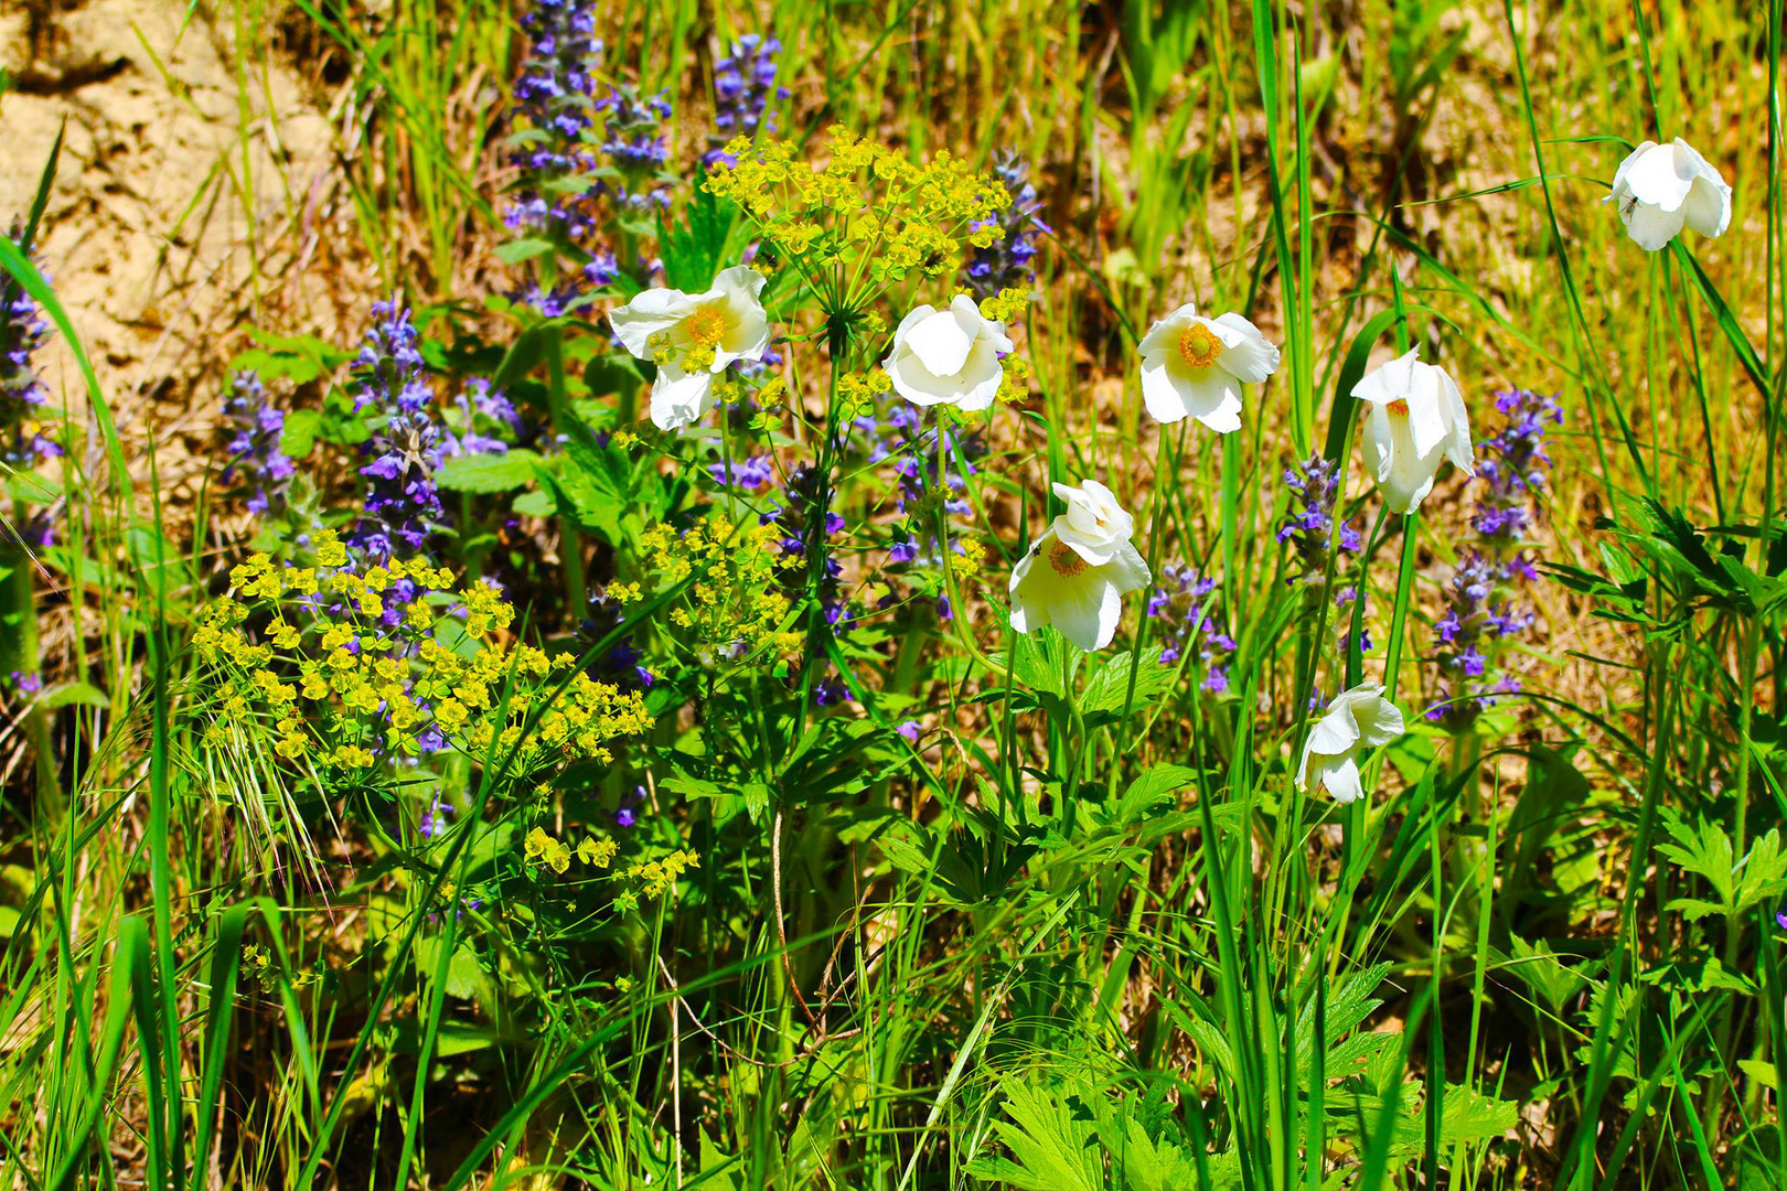
[[[1521,586],[1539,577],[1523,545],[1551,466],[1546,427],[1564,421],[1556,398],[1530,389],[1498,393],[1496,409],[1505,421],[1481,443],[1478,482],[1487,491],[1471,518],[1480,541],[1458,559],[1446,614],[1433,625],[1440,698],[1424,714],[1453,732],[1476,723],[1496,696],[1521,689],[1515,675],[1498,670],[1496,654],[1535,620],[1515,602]]]

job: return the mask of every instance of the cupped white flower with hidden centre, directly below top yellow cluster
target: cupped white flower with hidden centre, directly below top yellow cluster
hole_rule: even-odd
[[[974,298],[958,293],[942,311],[920,305],[906,314],[881,368],[913,405],[974,412],[994,404],[1004,380],[999,355],[1010,350],[1004,323],[985,318]]]

